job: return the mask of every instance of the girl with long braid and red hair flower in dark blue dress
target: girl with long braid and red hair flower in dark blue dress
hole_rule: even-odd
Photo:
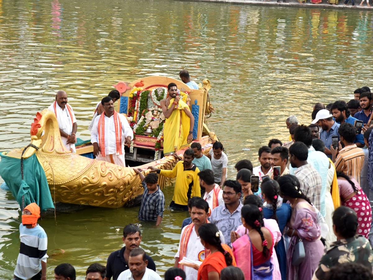
[[[279,203],[280,186],[277,181],[272,179],[264,180],[261,183],[261,193],[263,200],[267,202],[263,208],[263,215],[266,219],[274,219],[278,222],[279,230],[283,233],[286,224],[291,217],[291,206],[288,203]],[[280,235],[280,240],[275,245],[275,251],[279,262],[281,279],[286,279],[286,251],[285,242]]]

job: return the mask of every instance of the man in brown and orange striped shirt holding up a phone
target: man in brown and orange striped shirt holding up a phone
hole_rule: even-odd
[[[340,143],[343,144],[344,148],[339,150],[338,153],[337,149],[333,149],[333,145],[330,146],[335,170],[354,177],[360,184],[360,172],[363,168],[365,156],[363,150],[354,144],[356,128],[345,122],[338,128],[338,133],[341,138]]]

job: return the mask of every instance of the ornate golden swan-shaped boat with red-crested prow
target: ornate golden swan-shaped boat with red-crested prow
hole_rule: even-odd
[[[192,90],[186,84],[167,77],[154,76],[145,77],[132,83],[120,82],[116,85],[122,91],[120,92],[121,98],[118,102],[118,111],[123,111],[123,108],[125,108],[125,113],[128,112],[131,107],[128,97],[133,88],[142,86],[147,90],[151,90],[171,82],[176,83],[182,91],[189,91],[190,101],[194,102],[195,105],[200,102],[201,106],[198,107],[198,112],[196,111],[197,106],[191,106],[191,111],[194,114],[197,112],[197,117],[202,116],[197,118],[195,141],[199,141],[205,147],[204,153],[208,153],[211,140],[217,140],[215,134],[211,133],[204,124],[204,112],[209,109],[209,106],[207,106],[207,92],[211,86],[208,80],[204,80],[204,87],[201,86],[199,90]],[[127,106],[123,106],[123,102],[126,102]],[[66,150],[60,137],[59,126],[54,112],[48,109],[37,112],[31,125],[30,134],[30,144],[37,147],[37,149],[33,146],[28,146],[25,150],[15,149],[3,154],[18,159],[21,158],[22,151],[24,152],[22,158],[29,158],[35,154],[46,174],[54,202],[117,208],[128,205],[136,197],[142,195],[143,188],[140,178],[132,168],[121,167],[110,162],[98,161],[80,155],[92,151],[92,145],[77,147],[76,153]],[[132,153],[126,152],[126,160],[132,159],[133,162],[140,163],[137,168],[142,168],[145,174],[149,172],[148,166],[172,169],[177,162],[173,156],[161,158],[162,146],[158,149],[160,150],[158,160],[150,160],[147,157],[144,158],[146,160],[141,162],[140,153],[137,154],[137,152],[142,151],[141,154],[144,155],[144,151],[148,151],[153,152],[151,155],[154,155],[157,143],[154,138],[135,135],[133,146],[136,151],[131,151]],[[180,154],[182,152],[182,150],[178,151]],[[170,181],[166,181],[166,178],[160,176],[159,183],[161,187],[164,187]]]

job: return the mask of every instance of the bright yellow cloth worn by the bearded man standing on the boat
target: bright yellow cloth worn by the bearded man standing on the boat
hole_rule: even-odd
[[[174,99],[170,100],[169,109]],[[171,116],[164,122],[163,128],[163,153],[174,153],[177,150],[187,147],[187,138],[190,129],[190,118],[184,110],[189,110],[188,105],[179,100]]]

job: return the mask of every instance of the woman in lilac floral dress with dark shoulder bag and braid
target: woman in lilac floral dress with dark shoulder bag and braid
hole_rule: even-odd
[[[310,199],[305,196],[297,177],[284,175],[278,179],[280,195],[290,202],[292,214],[289,221],[289,230],[286,234],[291,237],[288,251],[286,252],[288,280],[311,280],[319,260],[324,252],[321,241],[320,224],[316,208]],[[298,266],[292,265],[294,246],[303,241],[305,258]]]

